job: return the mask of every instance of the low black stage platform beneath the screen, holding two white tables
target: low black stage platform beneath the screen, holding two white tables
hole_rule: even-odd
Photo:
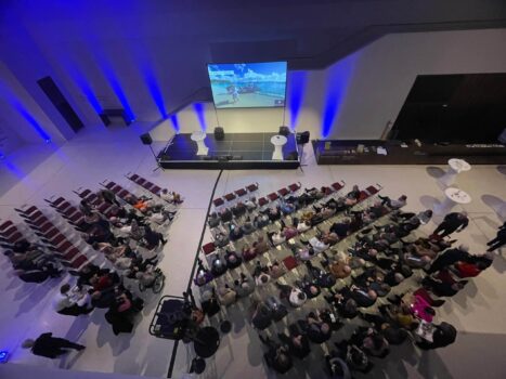
[[[167,147],[158,155],[164,169],[198,170],[248,170],[248,169],[297,169],[299,161],[294,159],[297,152],[295,134],[287,136],[283,146],[285,160],[273,160],[274,145],[271,138],[277,133],[225,133],[223,141],[215,140],[207,133],[205,143],[209,147],[206,156],[197,156],[197,144],[191,134],[176,134]],[[289,157],[291,155],[291,157]],[[288,158],[293,158],[288,160]]]

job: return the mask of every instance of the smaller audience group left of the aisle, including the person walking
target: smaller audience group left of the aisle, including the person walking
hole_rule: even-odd
[[[105,319],[115,335],[131,332],[135,315],[143,309],[143,300],[132,293],[127,283],[148,288],[160,275],[156,267],[158,252],[167,243],[163,226],[173,220],[177,213],[174,206],[181,204],[182,198],[167,190],[160,191],[159,199],[133,195],[118,199],[109,190],[100,190],[96,196],[111,207],[105,213],[96,205],[82,199],[79,209],[85,217],[77,230],[105,261],[100,266],[88,263],[79,271],[69,271],[72,276],[60,286],[52,308],[66,316],[87,315],[94,309],[105,309]],[[56,249],[43,240],[37,244],[24,238],[13,244],[0,240],[0,246],[24,282],[42,283],[64,273]],[[51,358],[68,349],[85,349],[52,337],[51,332],[26,340],[23,347],[36,355]]]

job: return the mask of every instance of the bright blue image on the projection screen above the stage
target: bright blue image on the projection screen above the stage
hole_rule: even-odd
[[[207,69],[217,108],[285,105],[286,62],[210,64]]]

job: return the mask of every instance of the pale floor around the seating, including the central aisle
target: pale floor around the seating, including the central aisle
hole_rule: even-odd
[[[180,295],[187,285],[189,275],[205,222],[206,209],[218,171],[156,171],[150,149],[139,141],[135,128],[88,132],[61,148],[51,145],[26,149],[0,162],[0,219],[16,218],[13,207],[35,204],[46,207],[44,197],[64,195],[77,201],[72,193],[79,186],[99,188],[104,179],[129,185],[122,177],[135,171],[158,185],[183,194],[185,201],[178,219],[171,225],[169,243],[164,250],[160,267],[167,275],[161,295]],[[316,166],[307,148],[308,167],[304,172],[293,171],[224,171],[217,187],[223,195],[250,182],[260,184],[267,194],[300,181],[304,186],[329,184],[345,180],[348,185],[380,183],[390,196],[406,194],[407,208],[413,211],[431,207],[443,198],[437,177],[440,167],[421,166]],[[470,246],[472,252],[482,252],[485,243],[495,236],[503,220],[496,214],[501,199],[506,199],[506,171],[504,167],[475,166],[457,179],[457,185],[472,196],[472,202],[463,208],[469,213],[469,227],[458,234],[459,241]],[[132,188],[134,188],[132,186]],[[455,209],[460,209],[457,207]],[[49,211],[49,208],[48,208]],[[439,220],[436,219],[436,222]],[[433,228],[427,225],[425,232]],[[424,231],[423,231],[424,232]],[[205,239],[208,241],[209,239]],[[503,249],[504,251],[505,249]],[[0,257],[4,275],[0,277],[2,306],[0,309],[0,350],[12,353],[10,362],[72,370],[120,373],[152,377],[166,377],[172,343],[153,338],[147,326],[158,297],[146,299],[143,318],[131,335],[114,336],[105,323],[103,312],[77,318],[60,316],[51,306],[51,298],[59,287],[53,280],[43,285],[23,284],[13,277],[7,259]],[[438,310],[438,319],[449,321],[459,330],[453,345],[420,354],[407,344],[395,348],[385,363],[372,373],[389,378],[473,378],[486,365],[489,378],[504,378],[506,363],[502,353],[506,347],[506,280],[503,273],[506,261],[498,254],[493,266],[473,279],[465,290]],[[20,348],[28,337],[52,331],[54,335],[87,345],[80,354],[63,360],[33,356]],[[220,350],[206,378],[262,378],[271,377],[261,362],[261,349],[248,325],[236,325],[223,338]],[[394,350],[395,350],[394,349]],[[173,377],[187,370],[192,352],[180,344]],[[291,375],[291,377],[306,374]]]

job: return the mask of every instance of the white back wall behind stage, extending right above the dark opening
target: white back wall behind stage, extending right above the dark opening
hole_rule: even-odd
[[[285,125],[313,139],[378,139],[394,122],[417,75],[506,73],[506,29],[412,32],[386,36],[325,70],[290,71]],[[300,96],[295,125],[291,103]],[[205,104],[208,131],[217,125]],[[282,108],[218,110],[225,132],[275,131]],[[192,106],[178,113],[181,132],[200,128]],[[325,131],[325,126],[326,131]],[[155,128],[166,140],[171,122]]]

